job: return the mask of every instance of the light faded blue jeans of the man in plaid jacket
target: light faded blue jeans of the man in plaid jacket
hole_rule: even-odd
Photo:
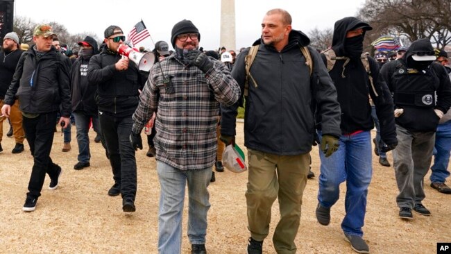
[[[181,253],[182,214],[185,185],[188,183],[188,238],[191,244],[205,244],[210,194],[207,187],[212,168],[180,170],[157,160],[160,180],[158,214],[158,253]]]

